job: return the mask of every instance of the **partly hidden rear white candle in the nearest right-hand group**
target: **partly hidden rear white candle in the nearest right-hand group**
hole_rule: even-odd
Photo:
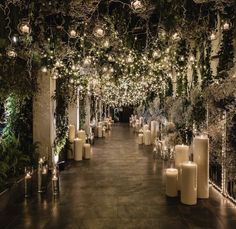
[[[179,170],[178,189],[181,190],[181,163],[189,161],[189,147],[186,145],[175,146],[175,167]]]

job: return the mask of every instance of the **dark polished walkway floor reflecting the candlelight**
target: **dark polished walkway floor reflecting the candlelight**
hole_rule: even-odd
[[[212,188],[196,206],[167,198],[166,166],[153,160],[151,147],[138,146],[131,128],[114,126],[97,140],[90,161],[61,173],[58,198],[20,198],[0,213],[0,228],[236,228],[236,207]]]

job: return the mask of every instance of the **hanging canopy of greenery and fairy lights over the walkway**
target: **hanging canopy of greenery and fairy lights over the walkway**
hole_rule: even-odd
[[[32,101],[37,72],[50,71],[61,104],[56,147],[79,88],[82,97],[173,121],[183,143],[207,130],[220,145],[214,125],[227,111],[234,162],[234,0],[6,0],[0,11],[1,103],[12,94]]]

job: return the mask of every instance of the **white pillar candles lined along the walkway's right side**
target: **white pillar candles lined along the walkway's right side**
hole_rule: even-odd
[[[130,118],[130,125],[139,133],[139,144],[154,144],[159,132],[156,122],[151,121],[151,130],[149,130],[149,125],[142,125],[140,119],[135,116]],[[142,128],[141,133],[140,128]],[[177,197],[180,191],[180,200],[186,205],[197,204],[197,198],[209,198],[209,138],[207,135],[193,138],[192,152],[193,161],[190,161],[190,147],[176,145],[174,147],[175,166],[167,168],[165,172],[166,195]]]

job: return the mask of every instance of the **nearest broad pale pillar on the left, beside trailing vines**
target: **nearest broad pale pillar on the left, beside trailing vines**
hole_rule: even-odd
[[[52,79],[51,71],[39,71],[37,80],[39,91],[33,101],[33,141],[39,143],[39,156],[46,157],[51,163],[56,137],[56,103],[53,99],[56,81]]]

